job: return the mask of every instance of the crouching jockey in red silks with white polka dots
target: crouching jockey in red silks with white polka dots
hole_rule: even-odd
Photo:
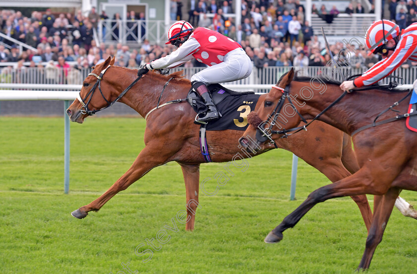
[[[193,58],[209,66],[191,77],[193,88],[200,94],[208,111],[197,121],[218,119],[218,113],[207,84],[230,82],[248,77],[252,72],[249,56],[236,41],[208,28],[196,29],[187,21],[177,21],[168,30],[168,42],[177,50],[146,64],[146,69],[174,68]]]

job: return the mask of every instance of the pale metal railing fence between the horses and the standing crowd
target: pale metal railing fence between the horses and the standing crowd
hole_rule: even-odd
[[[171,72],[183,70],[185,78],[190,79],[192,75],[204,68],[175,68]],[[231,82],[229,84],[239,85],[257,85],[257,84],[276,84],[282,74],[287,72],[290,67],[269,67],[256,69],[254,68],[252,74],[245,79]],[[316,76],[326,75],[329,78],[343,81],[339,70],[332,67],[294,67],[298,70],[300,75]],[[345,75],[361,74],[365,69],[356,69],[351,67],[341,67],[342,73]],[[91,72],[90,68],[82,69],[62,69],[62,68],[24,68],[11,69],[3,68],[0,70],[0,83],[25,83],[25,84],[81,84],[83,79]],[[392,75],[401,76],[404,78],[405,84],[412,84],[417,78],[417,67],[408,69],[399,68],[394,71]],[[389,79],[383,79],[381,84],[386,84]],[[253,89],[255,92],[268,92],[269,89]]]

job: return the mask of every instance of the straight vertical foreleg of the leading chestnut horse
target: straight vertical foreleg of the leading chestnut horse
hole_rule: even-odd
[[[181,164],[187,197],[187,223],[185,230],[194,230],[195,215],[199,206],[200,164]]]

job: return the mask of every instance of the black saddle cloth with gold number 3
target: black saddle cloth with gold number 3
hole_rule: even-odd
[[[208,85],[213,102],[222,117],[207,124],[208,131],[238,130],[245,131],[248,127],[247,116],[255,110],[258,94],[254,92],[236,92],[219,84]],[[197,113],[206,112],[207,107],[193,89],[187,96],[188,102]],[[200,124],[195,122],[196,124]]]

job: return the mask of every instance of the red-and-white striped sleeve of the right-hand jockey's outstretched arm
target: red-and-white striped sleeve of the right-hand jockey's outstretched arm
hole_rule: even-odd
[[[385,59],[382,59],[361,76],[354,79],[356,87],[371,85],[390,75],[395,69],[400,67],[410,56],[417,52],[417,36],[407,35],[400,39],[394,53]]]

